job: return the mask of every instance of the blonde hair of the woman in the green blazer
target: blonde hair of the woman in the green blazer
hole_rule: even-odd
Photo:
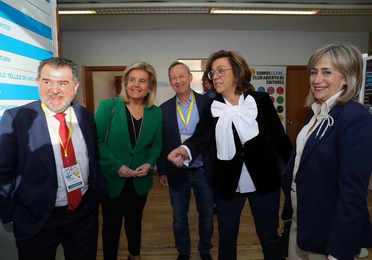
[[[154,67],[146,62],[143,62],[143,61],[135,62],[126,67],[123,73],[123,79],[121,82],[120,98],[126,104],[129,103],[129,97],[128,97],[128,92],[126,91],[126,85],[128,84],[128,80],[129,80],[129,72],[131,72],[133,69],[142,69],[148,74],[148,79],[149,79],[148,90],[150,90],[150,93],[148,93],[146,97],[143,99],[142,104],[145,105],[145,103],[147,103],[146,107],[150,108],[154,104],[157,80],[156,80],[156,72],[155,72]]]

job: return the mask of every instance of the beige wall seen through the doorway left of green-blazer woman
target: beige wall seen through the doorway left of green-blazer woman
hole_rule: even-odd
[[[93,71],[94,113],[101,100],[115,97],[115,76],[122,75],[122,71]]]

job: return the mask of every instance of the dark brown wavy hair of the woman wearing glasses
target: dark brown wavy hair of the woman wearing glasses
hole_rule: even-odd
[[[241,95],[242,93],[250,93],[254,91],[254,87],[250,83],[251,70],[248,66],[248,63],[237,52],[221,50],[212,53],[211,56],[209,56],[206,71],[211,71],[212,63],[219,58],[227,58],[231,65],[232,74],[234,75],[236,83],[235,95]],[[211,90],[216,92],[214,85],[212,85]]]

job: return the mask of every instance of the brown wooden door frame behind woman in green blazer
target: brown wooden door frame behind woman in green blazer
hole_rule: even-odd
[[[94,115],[93,71],[125,71],[126,66],[81,66],[83,75],[83,102]]]

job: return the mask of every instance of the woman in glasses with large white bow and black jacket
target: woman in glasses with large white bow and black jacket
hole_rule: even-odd
[[[288,162],[292,144],[266,92],[250,84],[247,62],[232,51],[219,51],[206,66],[217,96],[205,103],[192,137],[168,159],[187,165],[214,147],[219,260],[237,259],[240,214],[248,198],[264,259],[279,255],[280,182],[277,155]]]

